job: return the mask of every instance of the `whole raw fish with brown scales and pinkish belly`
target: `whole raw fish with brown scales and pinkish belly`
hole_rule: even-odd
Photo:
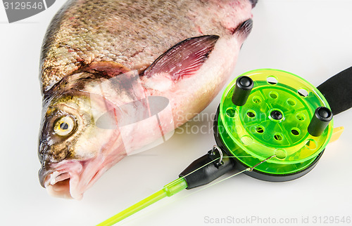
[[[254,0],[69,0],[40,58],[39,182],[82,199],[131,153],[165,142],[234,70]]]

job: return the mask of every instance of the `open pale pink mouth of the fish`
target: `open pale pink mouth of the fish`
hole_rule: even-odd
[[[106,171],[95,162],[96,159],[64,160],[42,167],[39,170],[39,181],[53,197],[80,200],[84,192]]]

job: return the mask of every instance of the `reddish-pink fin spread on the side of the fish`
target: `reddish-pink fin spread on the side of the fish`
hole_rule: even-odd
[[[218,39],[218,35],[205,35],[181,41],[158,57],[144,71],[144,77],[169,74],[173,81],[189,77],[206,62]]]

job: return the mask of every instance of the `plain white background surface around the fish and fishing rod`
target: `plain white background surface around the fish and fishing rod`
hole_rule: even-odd
[[[13,24],[0,6],[0,225],[95,225],[176,179],[215,143],[211,133],[175,134],[163,145],[120,161],[82,201],[49,197],[37,178],[39,53],[46,27],[62,4],[56,1],[48,10]],[[342,0],[259,1],[253,9],[253,31],[232,79],[269,67],[318,86],[351,67],[351,8],[352,1]],[[205,113],[215,112],[220,94]],[[301,225],[302,216],[352,216],[351,117],[352,111],[334,118],[335,126],[345,126],[343,135],[328,145],[318,166],[303,178],[274,183],[238,175],[205,190],[166,198],[124,225],[210,225],[206,216],[298,218],[292,225]],[[203,124],[208,121],[189,126]]]

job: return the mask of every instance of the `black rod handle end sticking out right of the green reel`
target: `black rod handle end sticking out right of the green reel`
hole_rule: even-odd
[[[317,87],[337,115],[352,107],[352,67],[327,79]]]

